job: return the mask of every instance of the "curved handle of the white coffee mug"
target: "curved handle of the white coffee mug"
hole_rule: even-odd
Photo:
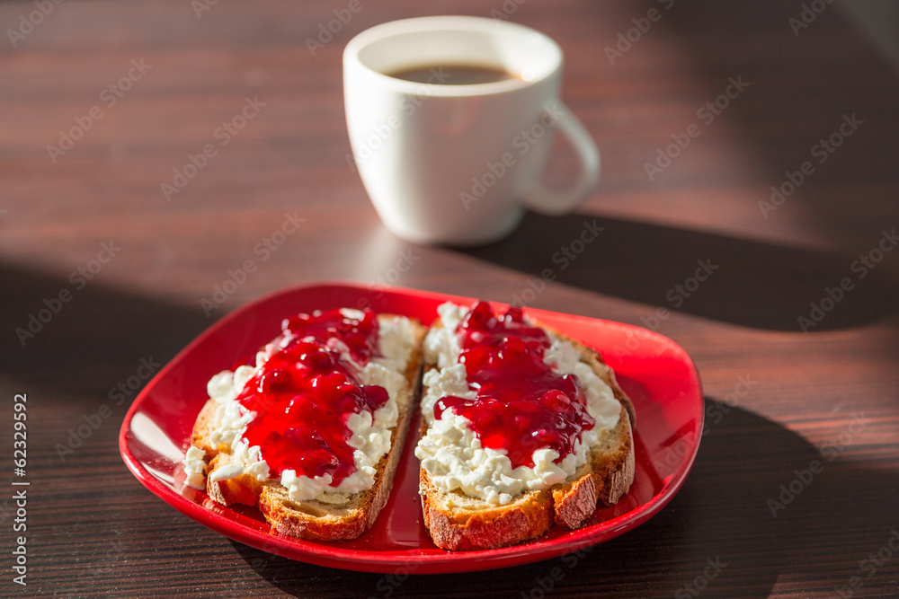
[[[592,137],[583,124],[572,114],[565,104],[558,113],[556,121],[562,134],[574,147],[581,162],[580,179],[572,189],[556,191],[547,189],[539,181],[524,196],[524,204],[535,211],[550,215],[564,215],[574,210],[583,198],[589,194],[600,179],[600,151],[593,143]]]

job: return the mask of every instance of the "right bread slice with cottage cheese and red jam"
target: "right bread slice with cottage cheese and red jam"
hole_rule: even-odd
[[[490,304],[442,304],[424,341],[420,494],[447,550],[586,524],[634,480],[634,410],[591,348]]]

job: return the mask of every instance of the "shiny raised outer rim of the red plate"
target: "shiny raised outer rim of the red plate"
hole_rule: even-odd
[[[583,550],[586,547],[599,544],[601,542],[610,541],[611,539],[626,533],[637,526],[644,524],[647,520],[658,514],[663,507],[668,505],[672,498],[683,486],[687,479],[687,475],[692,469],[699,451],[701,442],[701,430],[705,422],[704,397],[702,390],[702,382],[699,377],[699,371],[695,364],[687,354],[686,350],[681,348],[672,339],[654,331],[648,330],[637,325],[625,322],[608,321],[590,316],[579,316],[570,313],[558,313],[539,308],[527,307],[526,310],[535,316],[549,315],[556,320],[572,320],[588,319],[594,322],[600,322],[602,326],[610,326],[624,330],[639,330],[640,335],[650,338],[656,338],[665,346],[670,347],[679,354],[678,358],[685,366],[688,366],[690,376],[696,383],[698,391],[697,413],[699,418],[696,420],[697,427],[688,442],[690,451],[683,456],[683,460],[676,471],[672,473],[668,481],[664,484],[663,489],[655,493],[652,498],[637,505],[633,509],[618,515],[610,520],[603,521],[592,526],[571,531],[565,539],[550,539],[545,542],[525,542],[509,547],[501,547],[488,550],[474,551],[443,551],[441,553],[421,553],[414,554],[415,549],[394,550],[394,551],[364,551],[359,549],[345,549],[339,546],[320,544],[313,541],[305,541],[295,539],[283,535],[272,535],[271,533],[263,533],[255,530],[245,524],[241,524],[236,520],[227,518],[225,515],[218,514],[201,504],[185,498],[169,489],[165,484],[156,478],[156,476],[147,470],[147,467],[140,462],[134,454],[131,453],[129,447],[129,430],[132,418],[138,412],[138,409],[147,400],[147,395],[155,387],[158,379],[163,379],[168,372],[178,365],[183,357],[189,355],[193,349],[209,337],[218,333],[218,330],[227,326],[229,322],[241,318],[245,313],[253,312],[260,305],[271,302],[282,295],[295,295],[308,293],[316,289],[343,288],[347,292],[362,295],[370,293],[373,290],[369,286],[360,285],[357,282],[343,280],[324,280],[311,283],[301,284],[297,286],[283,287],[279,290],[262,295],[253,301],[237,307],[230,313],[222,316],[218,321],[213,322],[209,327],[200,332],[200,334],[191,340],[181,351],[172,357],[163,368],[161,368],[154,377],[145,385],[144,389],[138,393],[138,396],[132,401],[129,410],[122,421],[119,433],[119,451],[122,460],[128,467],[129,471],[138,481],[156,497],[162,499],[170,507],[174,507],[183,515],[187,515],[198,524],[202,524],[210,530],[223,534],[237,542],[243,542],[253,546],[261,551],[267,551],[280,555],[281,557],[303,561],[319,566],[329,568],[340,568],[362,572],[379,572],[389,573],[395,572],[397,568],[407,568],[417,574],[427,573],[449,573],[449,572],[467,572],[492,568],[507,568],[517,566],[533,561],[544,559],[552,559],[557,556],[572,551]],[[378,286],[378,291],[397,293],[413,297],[420,297],[428,300],[440,301],[462,301],[471,302],[476,298],[466,297],[462,295],[443,294],[438,292],[424,291],[420,289],[412,289],[401,286]],[[502,302],[494,302],[490,304],[503,306]],[[636,435],[636,433],[635,433]],[[636,439],[635,439],[636,440]],[[379,516],[380,517],[380,516]],[[413,570],[414,568],[414,570]]]

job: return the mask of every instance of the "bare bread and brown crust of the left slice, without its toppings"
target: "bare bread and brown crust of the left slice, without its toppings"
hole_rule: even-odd
[[[380,326],[389,326],[391,314],[379,314]],[[387,503],[393,485],[396,465],[402,454],[409,420],[420,392],[422,369],[422,339],[426,329],[410,321],[414,328],[414,350],[409,357],[405,385],[396,397],[398,418],[391,430],[390,449],[375,466],[375,480],[370,489],[359,493],[335,493],[330,501],[319,498],[294,501],[288,489],[279,480],[259,481],[248,473],[227,480],[214,480],[219,469],[235,464],[228,445],[212,446],[210,435],[217,427],[217,401],[210,399],[200,410],[191,436],[191,444],[205,454],[206,490],[209,497],[223,506],[244,504],[258,505],[265,519],[271,524],[272,533],[316,541],[341,541],[358,537],[374,524],[378,513]],[[239,468],[239,464],[237,464]],[[333,501],[337,500],[338,503]]]

